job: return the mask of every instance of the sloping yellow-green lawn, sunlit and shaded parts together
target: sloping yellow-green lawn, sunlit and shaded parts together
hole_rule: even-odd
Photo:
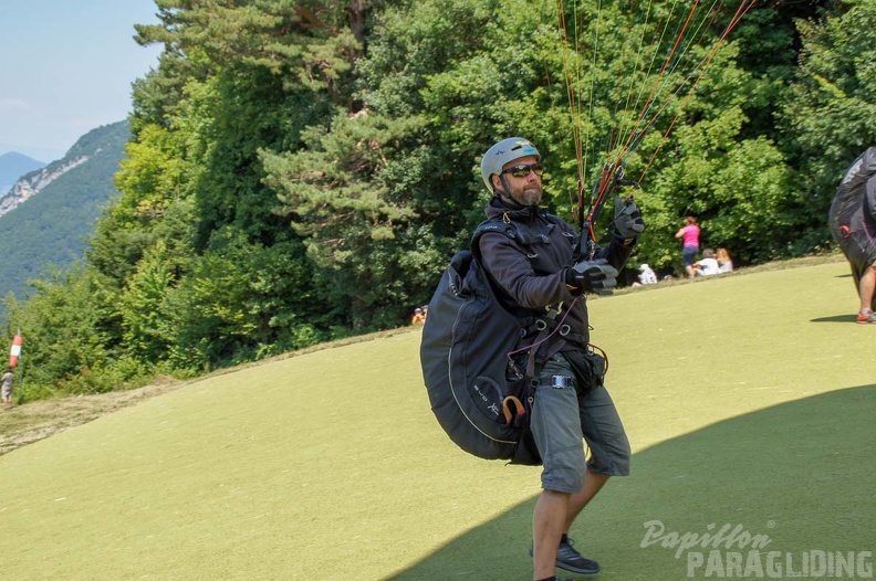
[[[656,522],[730,525],[794,567],[876,551],[856,304],[843,262],[591,302],[635,453],[572,531],[599,579],[705,578],[689,560],[712,547],[644,542]],[[418,348],[411,329],[247,367],[0,456],[0,579],[530,579],[540,471],[455,447]]]

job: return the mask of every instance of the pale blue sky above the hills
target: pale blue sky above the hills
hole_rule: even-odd
[[[49,163],[124,120],[161,52],[134,42],[134,24],[156,12],[154,0],[0,0],[0,155]]]

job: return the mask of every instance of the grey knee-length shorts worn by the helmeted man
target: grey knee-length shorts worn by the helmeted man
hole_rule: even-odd
[[[532,406],[532,434],[544,466],[542,488],[577,493],[587,468],[628,475],[629,441],[608,391],[601,387],[581,397],[573,385],[553,387],[552,376],[575,377],[562,353],[544,365]]]

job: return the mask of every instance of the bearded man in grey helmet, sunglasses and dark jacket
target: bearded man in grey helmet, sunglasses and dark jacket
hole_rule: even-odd
[[[608,246],[596,247],[588,260],[575,262],[581,257],[575,229],[539,207],[540,162],[535,147],[518,137],[499,141],[484,154],[481,176],[493,193],[487,215],[513,223],[517,234],[488,231],[476,249],[498,299],[509,311],[520,317],[548,313],[557,321],[559,332],[529,351],[530,357],[535,351],[548,353],[535,369],[531,412],[531,430],[543,463],[542,493],[532,519],[536,580],[554,579],[555,568],[582,574],[599,571],[598,563],[582,557],[567,535],[611,476],[629,474],[630,452],[602,378],[587,380],[586,371],[582,373],[585,353],[594,352],[585,293],[616,285],[617,272],[645,229],[634,203],[618,203]]]

